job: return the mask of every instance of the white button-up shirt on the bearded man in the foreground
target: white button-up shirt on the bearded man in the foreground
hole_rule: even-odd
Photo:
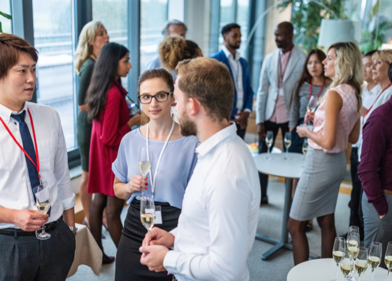
[[[232,123],[196,149],[198,163],[172,232],[174,250],[163,262],[179,281],[249,280],[247,257],[259,218],[260,180],[236,130]]]

